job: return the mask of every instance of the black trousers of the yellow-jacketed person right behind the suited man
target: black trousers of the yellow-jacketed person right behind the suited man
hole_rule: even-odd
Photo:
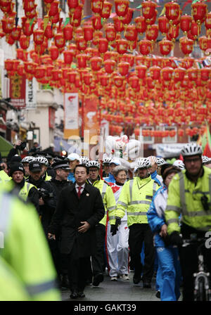
[[[96,255],[91,255],[92,273],[93,276],[96,274],[103,273],[105,265],[104,259],[104,245],[106,237],[106,226],[98,224],[96,226]]]

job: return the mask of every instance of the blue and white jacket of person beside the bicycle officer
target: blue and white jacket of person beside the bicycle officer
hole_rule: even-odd
[[[165,222],[165,207],[167,204],[167,187],[164,185],[156,191],[147,212],[148,224],[155,233],[155,247],[165,247],[163,238],[159,235],[161,226]]]

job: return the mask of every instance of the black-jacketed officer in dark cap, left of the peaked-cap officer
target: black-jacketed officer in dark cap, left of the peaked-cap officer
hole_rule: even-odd
[[[39,214],[41,215],[41,224],[44,232],[48,232],[51,217],[56,209],[56,192],[49,183],[45,181],[42,176],[41,163],[38,161],[30,162],[29,165],[30,176],[27,182],[33,184],[39,192]]]

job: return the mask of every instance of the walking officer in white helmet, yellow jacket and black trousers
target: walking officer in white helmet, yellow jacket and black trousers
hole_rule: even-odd
[[[148,158],[141,158],[137,161],[139,176],[127,181],[120,193],[117,203],[117,220],[124,217],[127,209],[127,224],[129,227],[129,250],[134,262],[134,283],[141,281],[141,249],[143,241],[145,244],[144,266],[143,266],[143,288],[151,288],[153,277],[153,266],[155,249],[153,247],[153,233],[148,224],[146,213],[158,184],[151,179],[148,168],[151,162]]]

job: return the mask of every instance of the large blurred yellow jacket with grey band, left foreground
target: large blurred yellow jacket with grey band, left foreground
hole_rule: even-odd
[[[18,275],[31,300],[60,300],[49,245],[34,207],[2,189],[0,256]]]

